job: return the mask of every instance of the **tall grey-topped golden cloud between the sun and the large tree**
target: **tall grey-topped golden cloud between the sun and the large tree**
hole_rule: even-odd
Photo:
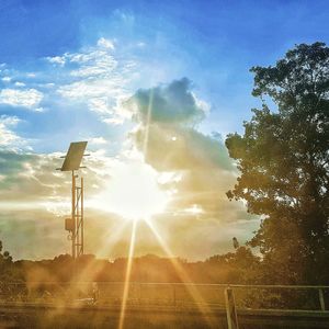
[[[190,214],[208,223],[231,223],[242,209],[225,195],[236,181],[236,167],[216,134],[197,131],[208,106],[196,100],[191,87],[183,78],[138,90],[126,103],[138,124],[132,138],[146,162],[167,174],[161,186],[174,191],[168,208],[171,216]]]

